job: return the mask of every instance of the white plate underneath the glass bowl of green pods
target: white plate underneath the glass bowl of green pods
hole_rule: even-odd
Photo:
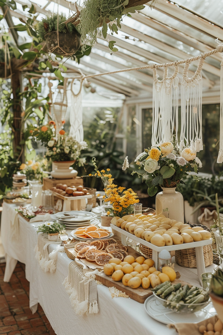
[[[217,314],[212,303],[196,313],[175,313],[169,308],[162,306],[154,295],[149,296],[145,300],[144,308],[151,318],[166,325],[169,323],[199,323]]]

